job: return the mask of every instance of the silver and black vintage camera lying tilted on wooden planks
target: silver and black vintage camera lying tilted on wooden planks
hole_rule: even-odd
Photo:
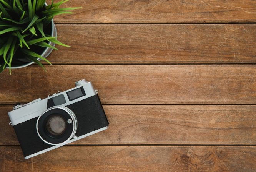
[[[18,104],[8,115],[25,159],[108,128],[98,90],[85,79],[75,88]]]

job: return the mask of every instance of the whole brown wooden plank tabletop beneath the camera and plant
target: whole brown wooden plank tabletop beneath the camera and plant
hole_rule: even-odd
[[[48,1],[49,3],[50,1]],[[72,0],[45,65],[0,74],[2,171],[255,171],[254,0]],[[91,81],[108,130],[23,159],[7,113]]]

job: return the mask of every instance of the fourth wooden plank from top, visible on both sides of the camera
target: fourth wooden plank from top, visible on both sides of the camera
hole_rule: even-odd
[[[256,144],[256,106],[104,105],[108,130],[72,144]],[[0,106],[0,145],[18,145]]]

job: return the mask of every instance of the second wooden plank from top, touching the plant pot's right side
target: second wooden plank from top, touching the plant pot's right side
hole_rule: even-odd
[[[54,64],[256,63],[256,24],[57,25]]]

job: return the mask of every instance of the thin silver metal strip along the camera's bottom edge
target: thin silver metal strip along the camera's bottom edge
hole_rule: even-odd
[[[85,134],[85,135],[82,135],[82,136],[78,137],[78,139],[69,140],[68,143],[71,143],[71,142],[73,142],[73,141],[79,140],[79,139],[81,139],[81,138],[85,138],[85,137],[87,137],[87,136],[93,135],[93,134],[95,134],[95,133],[98,133],[98,132],[103,131],[103,130],[106,130],[106,129],[108,129],[108,126],[103,127],[103,128],[100,128],[100,129],[95,130],[95,131],[92,131],[92,132],[87,133],[87,134]],[[59,144],[59,145],[56,145],[56,146],[52,146],[51,148],[44,149],[44,150],[39,151],[39,152],[37,152],[37,153],[31,154],[31,155],[29,155],[29,156],[25,156],[25,159],[29,159],[29,158],[34,157],[34,156],[37,156],[37,155],[39,155],[39,154],[48,152],[48,151],[50,151],[50,150],[53,150],[53,149],[58,148],[58,147],[63,146],[63,145],[65,145],[65,144]]]

